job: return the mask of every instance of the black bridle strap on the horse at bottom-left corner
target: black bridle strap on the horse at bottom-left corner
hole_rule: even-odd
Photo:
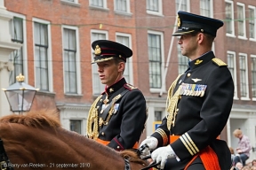
[[[4,143],[1,139],[0,139],[0,169],[13,170],[12,163],[7,157],[7,154],[4,150]]]

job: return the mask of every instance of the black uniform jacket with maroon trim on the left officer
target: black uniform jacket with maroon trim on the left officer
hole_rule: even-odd
[[[120,97],[122,93],[123,96]],[[116,102],[112,103],[113,100]],[[111,106],[111,109],[109,109],[106,119],[102,121],[103,112],[108,110],[108,105]],[[132,149],[132,146],[139,142],[147,119],[146,100],[139,89],[128,84],[123,78],[105,89],[94,107],[98,114],[96,123],[100,140],[110,142],[108,143],[109,147],[120,151]],[[92,127],[94,125],[95,122],[92,123]]]

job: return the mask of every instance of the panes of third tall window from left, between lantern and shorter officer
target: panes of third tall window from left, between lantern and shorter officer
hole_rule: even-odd
[[[65,93],[77,94],[76,30],[63,28],[63,38]]]

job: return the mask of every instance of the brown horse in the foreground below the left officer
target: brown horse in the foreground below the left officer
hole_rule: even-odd
[[[123,170],[124,158],[130,159],[131,170],[147,166],[133,151],[117,152],[61,128],[54,112],[5,116],[0,120],[0,139],[11,161],[7,166],[14,169]]]

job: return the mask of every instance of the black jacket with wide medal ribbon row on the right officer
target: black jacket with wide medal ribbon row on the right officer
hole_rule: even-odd
[[[177,107],[152,135],[158,139],[158,147],[171,143],[180,158],[178,164],[175,159],[177,168],[172,166],[172,169],[184,168],[196,153],[209,145],[219,158],[221,170],[230,169],[228,145],[216,139],[227,123],[233,104],[234,83],[227,65],[215,58],[212,51],[205,53],[190,62],[190,69],[178,78],[174,87],[172,95],[180,90]],[[170,129],[169,116],[172,117]],[[169,135],[180,137],[172,143]]]

